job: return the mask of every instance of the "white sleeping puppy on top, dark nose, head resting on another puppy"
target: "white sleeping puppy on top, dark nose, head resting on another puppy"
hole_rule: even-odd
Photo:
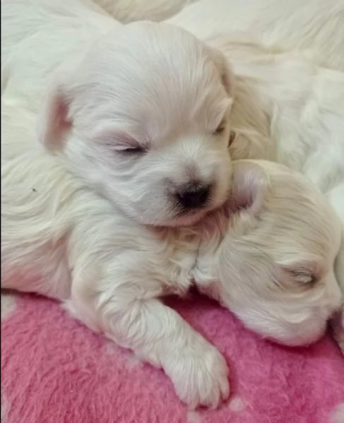
[[[85,1],[13,0],[2,20],[3,157],[40,149],[45,101],[45,148],[138,222],[190,225],[225,201],[232,84],[220,53]]]

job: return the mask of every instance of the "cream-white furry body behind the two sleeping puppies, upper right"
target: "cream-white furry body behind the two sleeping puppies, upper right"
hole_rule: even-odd
[[[105,6],[112,16],[124,9]],[[163,0],[152,7],[153,16],[165,13]],[[235,71],[232,158],[299,170],[326,193],[344,227],[344,1],[199,0],[175,14],[179,7],[170,2],[168,22],[220,49]],[[136,20],[144,10],[143,2],[127,6],[126,16]],[[336,275],[344,292],[344,234]],[[344,333],[344,313],[342,325]]]

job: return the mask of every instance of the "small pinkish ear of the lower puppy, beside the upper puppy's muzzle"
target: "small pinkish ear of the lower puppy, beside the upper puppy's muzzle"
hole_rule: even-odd
[[[229,200],[230,210],[247,210],[250,215],[258,215],[268,194],[268,177],[254,161],[233,162],[232,191]]]

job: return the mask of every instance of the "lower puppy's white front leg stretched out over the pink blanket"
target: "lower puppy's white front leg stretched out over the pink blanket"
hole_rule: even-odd
[[[128,275],[116,284],[79,282],[67,308],[87,326],[170,376],[179,398],[194,408],[216,407],[229,394],[228,369],[220,352],[160,302],[160,284],[145,286]],[[90,276],[90,275],[89,275]],[[137,275],[136,275],[137,277]]]

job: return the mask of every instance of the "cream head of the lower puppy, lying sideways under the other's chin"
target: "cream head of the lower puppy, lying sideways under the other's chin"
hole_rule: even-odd
[[[208,217],[196,282],[264,338],[314,342],[340,306],[340,220],[297,172],[259,160],[233,165],[232,197]]]

